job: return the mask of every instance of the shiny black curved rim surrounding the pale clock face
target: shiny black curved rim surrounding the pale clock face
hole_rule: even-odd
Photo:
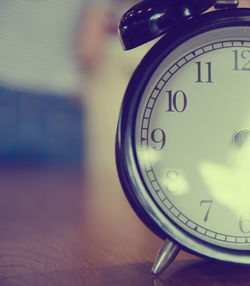
[[[190,38],[217,28],[235,26],[250,26],[250,9],[237,8],[203,14],[187,21],[184,27],[177,27],[168,33],[148,52],[134,72],[124,96],[117,128],[116,161],[120,181],[131,206],[156,235],[162,239],[169,237],[191,253],[250,264],[250,250],[234,250],[210,244],[189,234],[167,218],[147,190],[135,151],[135,118],[139,102],[157,66]]]

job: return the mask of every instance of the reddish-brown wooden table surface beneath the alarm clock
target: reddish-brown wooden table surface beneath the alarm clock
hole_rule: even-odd
[[[162,241],[127,203],[116,174],[0,167],[0,285],[250,285],[249,267],[181,252],[151,273]]]

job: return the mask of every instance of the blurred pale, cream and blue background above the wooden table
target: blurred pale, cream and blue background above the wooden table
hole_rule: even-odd
[[[75,165],[116,176],[120,104],[146,46],[125,52],[136,1],[0,3],[0,164]]]

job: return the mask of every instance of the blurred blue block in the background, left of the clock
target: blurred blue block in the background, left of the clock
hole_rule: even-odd
[[[0,164],[82,164],[83,113],[78,97],[0,88]]]

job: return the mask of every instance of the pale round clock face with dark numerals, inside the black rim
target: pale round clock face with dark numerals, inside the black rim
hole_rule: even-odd
[[[174,49],[135,118],[137,166],[161,211],[192,236],[250,249],[250,27]]]

